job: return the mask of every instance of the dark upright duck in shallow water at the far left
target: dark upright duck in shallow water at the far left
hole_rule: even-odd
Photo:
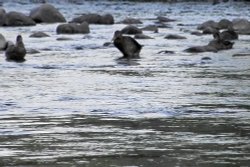
[[[8,61],[25,61],[24,57],[26,55],[26,49],[23,43],[23,38],[21,35],[16,37],[16,44],[13,42],[6,43],[5,56]]]

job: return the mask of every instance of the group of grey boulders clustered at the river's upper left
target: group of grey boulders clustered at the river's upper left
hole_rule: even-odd
[[[86,34],[89,24],[114,24],[110,14],[83,14],[65,23],[65,17],[51,4],[42,4],[30,11],[29,16],[21,12],[8,12],[0,8],[0,26],[34,26],[36,23],[64,23],[57,27],[58,34]]]

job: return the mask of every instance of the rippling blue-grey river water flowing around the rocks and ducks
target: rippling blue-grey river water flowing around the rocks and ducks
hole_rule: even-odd
[[[28,14],[36,3],[5,2],[6,11]],[[189,31],[222,18],[250,20],[250,4],[52,2],[69,21],[81,13],[111,13],[117,24],[90,25],[87,35],[57,35],[58,24],[1,27],[22,34],[24,63],[0,57],[0,166],[249,166],[250,36],[232,50],[189,54],[211,35]],[[139,60],[118,60],[110,42],[126,17],[154,24],[176,19],[154,39],[138,40]],[[35,31],[50,35],[30,38]],[[179,34],[184,40],[164,39]],[[59,37],[72,40],[57,41]],[[174,54],[158,54],[162,50]],[[210,57],[211,59],[202,59]]]

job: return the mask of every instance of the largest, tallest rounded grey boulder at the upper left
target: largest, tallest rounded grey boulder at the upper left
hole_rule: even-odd
[[[37,23],[66,22],[64,16],[50,4],[42,4],[31,10],[30,17]]]

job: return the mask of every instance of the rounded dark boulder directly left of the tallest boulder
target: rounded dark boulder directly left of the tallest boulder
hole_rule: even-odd
[[[4,16],[4,26],[33,26],[36,23],[29,17],[19,12],[9,12]]]

